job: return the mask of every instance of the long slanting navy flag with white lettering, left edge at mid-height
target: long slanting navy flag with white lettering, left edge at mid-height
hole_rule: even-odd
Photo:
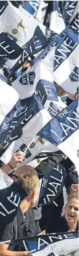
[[[1,156],[5,150],[10,146],[12,141],[15,141],[23,134],[23,127],[27,125],[28,121],[32,119],[40,110],[44,107],[40,100],[33,95],[28,99],[24,99],[17,102],[12,110],[6,115],[5,119],[1,123]]]

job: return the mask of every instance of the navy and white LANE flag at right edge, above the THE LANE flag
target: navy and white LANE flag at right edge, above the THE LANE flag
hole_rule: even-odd
[[[65,91],[75,94],[78,87],[78,34],[65,29],[62,43],[54,54],[53,79]]]

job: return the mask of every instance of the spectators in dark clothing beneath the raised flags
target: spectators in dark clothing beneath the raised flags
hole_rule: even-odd
[[[22,162],[25,153],[16,152],[10,163],[1,167],[16,183],[27,193],[20,205],[14,220],[0,228],[0,256],[29,255],[27,251],[16,251],[15,244],[6,241],[35,237],[40,233],[61,233],[78,231],[79,220],[79,183],[78,172],[68,157],[53,156],[41,161],[35,169],[30,165],[16,168]],[[65,159],[66,158],[66,159]],[[62,163],[67,172],[63,191],[56,198],[56,204],[44,205],[36,209],[34,205],[38,200],[40,178],[50,172],[57,163]],[[8,173],[9,172],[9,173]],[[65,191],[64,191],[65,189]],[[65,199],[66,198],[66,199]],[[66,202],[66,203],[65,203]]]

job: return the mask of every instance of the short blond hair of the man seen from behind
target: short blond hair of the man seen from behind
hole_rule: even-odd
[[[21,177],[17,179],[17,183],[28,195],[39,188],[39,179],[35,174],[22,174]]]

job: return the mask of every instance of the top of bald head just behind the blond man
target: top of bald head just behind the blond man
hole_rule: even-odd
[[[20,178],[22,174],[34,174],[38,177],[38,172],[36,172],[36,170],[30,165],[23,165],[22,167],[17,168],[14,171],[13,176],[15,175]]]

